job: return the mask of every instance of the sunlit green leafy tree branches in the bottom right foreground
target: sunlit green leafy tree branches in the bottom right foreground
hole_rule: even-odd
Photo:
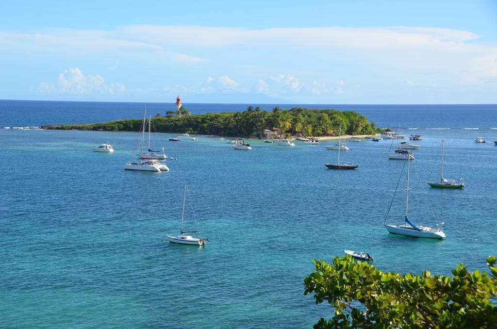
[[[314,264],[304,294],[335,308],[330,320],[321,318],[314,328],[497,328],[494,256],[487,259],[490,276],[464,264],[452,270],[453,277],[384,273],[351,256]]]

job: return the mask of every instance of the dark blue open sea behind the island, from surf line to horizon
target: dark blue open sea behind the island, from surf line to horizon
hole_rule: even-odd
[[[174,103],[124,103],[0,100],[0,127],[50,124],[99,123],[121,119],[141,119],[143,107],[151,115],[175,110]],[[378,127],[396,128],[497,128],[497,104],[463,105],[353,105],[353,104],[209,104],[184,103],[192,114],[245,111],[247,106],[270,111],[276,106],[356,111]]]

